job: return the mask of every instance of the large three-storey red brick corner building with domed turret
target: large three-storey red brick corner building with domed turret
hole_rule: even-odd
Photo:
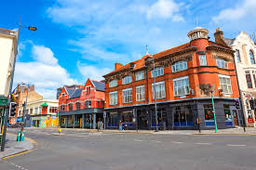
[[[209,41],[208,30],[196,27],[188,33],[190,42],[155,55],[146,54],[126,65],[115,64],[105,78],[107,127],[117,128],[121,120],[128,128],[213,128],[210,91],[213,90],[218,128],[234,126],[232,110],[239,98],[234,52],[228,46]],[[155,72],[153,63],[155,60]],[[212,87],[210,87],[210,85]]]

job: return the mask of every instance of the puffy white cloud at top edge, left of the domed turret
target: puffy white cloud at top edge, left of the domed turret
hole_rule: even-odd
[[[173,21],[184,21],[182,16],[178,14],[182,5],[175,3],[174,0],[158,0],[147,9],[146,16],[148,19],[171,18]]]

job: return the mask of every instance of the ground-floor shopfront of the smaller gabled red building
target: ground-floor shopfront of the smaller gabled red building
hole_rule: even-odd
[[[80,111],[62,111],[59,117],[61,127],[95,129],[99,121],[103,122],[103,109],[90,108]]]

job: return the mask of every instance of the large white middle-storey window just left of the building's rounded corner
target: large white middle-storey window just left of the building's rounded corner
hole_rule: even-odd
[[[190,95],[189,77],[179,77],[172,80],[174,97]],[[179,90],[181,93],[179,93]]]

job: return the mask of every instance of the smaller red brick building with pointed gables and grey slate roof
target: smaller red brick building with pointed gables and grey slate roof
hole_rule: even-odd
[[[59,116],[62,127],[96,128],[102,121],[105,84],[89,80],[80,88],[64,86],[59,97]]]

